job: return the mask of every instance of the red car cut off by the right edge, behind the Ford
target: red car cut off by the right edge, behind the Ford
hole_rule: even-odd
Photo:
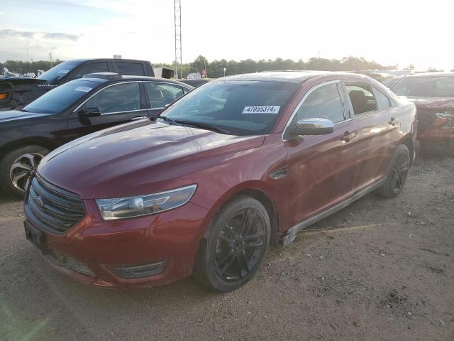
[[[454,74],[419,73],[400,77],[390,89],[418,109],[421,152],[454,155]]]

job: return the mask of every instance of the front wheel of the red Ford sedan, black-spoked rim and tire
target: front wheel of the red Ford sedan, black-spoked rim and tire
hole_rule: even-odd
[[[253,278],[270,244],[267,210],[252,197],[233,197],[208,232],[196,256],[194,278],[214,291],[243,286]]]

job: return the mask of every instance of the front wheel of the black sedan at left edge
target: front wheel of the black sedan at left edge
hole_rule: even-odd
[[[23,146],[10,151],[0,161],[0,188],[5,193],[22,198],[38,163],[49,153],[41,146]]]

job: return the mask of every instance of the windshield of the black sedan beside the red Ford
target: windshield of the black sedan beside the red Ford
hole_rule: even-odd
[[[24,112],[35,112],[37,114],[54,114],[62,112],[98,85],[99,82],[92,82],[89,80],[72,80],[71,82],[67,82],[64,85],[60,85],[60,87],[55,87],[55,89],[46,92],[43,96],[35,99],[22,110]]]

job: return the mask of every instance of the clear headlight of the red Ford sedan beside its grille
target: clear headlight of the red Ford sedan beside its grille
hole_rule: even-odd
[[[96,199],[102,219],[116,220],[141,215],[153,215],[184,205],[191,199],[197,185],[189,185],[166,192],[139,195],[137,197],[116,197]]]

